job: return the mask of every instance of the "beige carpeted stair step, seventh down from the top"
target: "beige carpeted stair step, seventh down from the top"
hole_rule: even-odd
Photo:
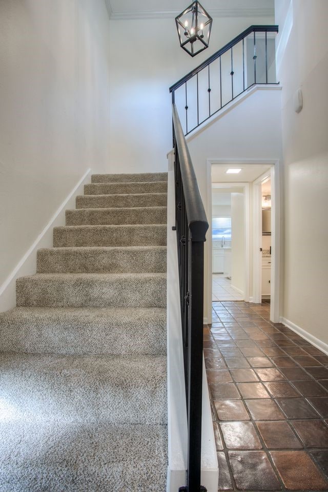
[[[16,280],[17,306],[164,308],[166,273],[40,273]]]

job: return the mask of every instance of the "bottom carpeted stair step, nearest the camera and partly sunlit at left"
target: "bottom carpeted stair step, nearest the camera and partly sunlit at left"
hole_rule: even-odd
[[[167,425],[6,421],[0,434],[2,492],[166,491]]]

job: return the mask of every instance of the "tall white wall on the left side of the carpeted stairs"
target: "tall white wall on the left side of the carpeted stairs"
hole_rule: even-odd
[[[0,286],[109,144],[104,0],[0,2]]]

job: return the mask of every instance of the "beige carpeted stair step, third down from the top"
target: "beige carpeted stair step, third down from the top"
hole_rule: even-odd
[[[110,207],[166,207],[167,193],[129,193],[119,195],[78,195],[77,209]]]

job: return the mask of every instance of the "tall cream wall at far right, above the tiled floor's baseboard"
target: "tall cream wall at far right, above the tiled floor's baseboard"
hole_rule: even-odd
[[[276,0],[285,194],[283,317],[328,343],[326,0]],[[303,110],[294,111],[301,88]]]

